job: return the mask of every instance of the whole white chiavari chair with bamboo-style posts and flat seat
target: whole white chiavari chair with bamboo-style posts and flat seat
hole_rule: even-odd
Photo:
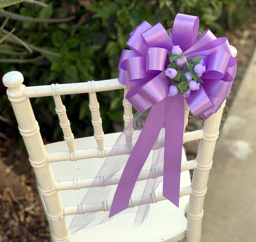
[[[147,220],[140,226],[133,226],[133,215],[123,213],[112,220],[91,229],[80,230],[70,236],[68,226],[74,214],[91,211],[109,210],[111,201],[101,204],[79,206],[85,190],[90,187],[94,176],[103,164],[111,147],[120,133],[104,135],[96,93],[128,87],[117,79],[88,81],[70,84],[52,84],[29,86],[22,84],[20,72],[11,71],[3,76],[8,98],[12,104],[20,134],[23,137],[31,166],[38,183],[38,192],[50,224],[53,242],[199,242],[203,199],[212,156],[224,103],[207,120],[200,130],[184,133],[183,143],[200,139],[197,156],[186,161],[182,153],[180,202],[176,208],[160,194],[161,187],[151,194],[152,205]],[[61,96],[88,93],[89,110],[94,136],[74,139]],[[64,141],[44,145],[29,98],[52,96]],[[131,105],[124,98],[124,126],[132,120]],[[187,124],[189,108],[185,102],[185,122]],[[131,148],[132,127],[125,131],[126,145],[119,147],[119,153],[125,154]],[[158,142],[158,148],[159,148]],[[157,149],[157,145],[154,146]],[[149,155],[150,156],[150,155]],[[150,168],[150,166],[149,166]],[[146,168],[146,169],[149,169]],[[194,169],[192,182],[189,170]],[[148,178],[149,171],[142,171],[139,180]],[[118,176],[112,179],[113,186],[118,183]],[[157,174],[162,175],[162,174]],[[150,178],[148,178],[150,179]],[[98,186],[102,186],[98,178]],[[158,193],[159,192],[159,193]],[[139,204],[140,198],[130,199],[129,207]],[[187,207],[187,204],[189,205]],[[39,239],[39,238],[38,238]]]

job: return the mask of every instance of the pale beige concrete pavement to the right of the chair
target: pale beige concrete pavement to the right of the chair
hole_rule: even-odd
[[[216,144],[201,242],[256,242],[255,136],[256,49]]]

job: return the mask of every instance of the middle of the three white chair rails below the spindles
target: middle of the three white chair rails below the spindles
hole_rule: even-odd
[[[197,161],[185,161],[181,163],[181,171],[186,171],[190,169],[197,168]],[[140,172],[137,181],[143,181],[147,179],[161,177],[163,175],[163,167],[152,168],[150,170],[145,170]],[[96,178],[87,178],[87,179],[73,179],[68,181],[56,182],[56,190],[77,190],[82,188],[89,187],[105,187],[111,185],[117,185],[120,181],[121,175],[112,176],[111,179],[107,177],[96,177]]]

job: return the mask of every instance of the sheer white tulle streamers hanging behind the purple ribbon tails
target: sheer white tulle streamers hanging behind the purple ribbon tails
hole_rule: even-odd
[[[105,180],[103,181],[103,184],[108,184],[114,175],[121,174],[121,171],[128,160],[129,155],[127,154],[115,155],[118,152],[118,147],[125,145],[125,134],[124,134],[125,130],[129,129],[130,125],[133,125],[133,134],[132,134],[132,147],[133,147],[140,134],[141,128],[143,126],[143,123],[147,115],[148,115],[148,110],[145,112],[137,112],[134,115],[133,121],[126,126],[124,131],[116,140],[112,150],[109,153],[109,156],[106,158],[105,162],[103,163],[102,167],[100,168],[96,176],[96,178],[105,176]],[[163,137],[164,137],[164,128],[162,128],[158,136],[158,140],[159,139],[162,140]],[[163,147],[163,145],[161,145],[161,147]],[[163,166],[163,149],[164,148],[160,148],[159,145],[158,147],[156,145],[156,149],[152,151],[152,156],[150,161],[147,160],[147,162],[151,163],[150,165],[151,168],[150,166],[148,168],[150,169],[149,176],[152,175],[151,174],[152,172],[154,172],[154,174],[155,173],[159,174],[160,169]],[[116,189],[116,185],[105,186],[105,187],[94,187],[95,179],[91,187],[88,189],[87,193],[85,194],[84,198],[82,199],[79,206],[81,206],[82,204],[88,205],[88,204],[94,204],[94,203],[102,203],[103,201],[106,201],[106,200],[112,201],[113,195]],[[136,182],[136,185],[133,189],[131,197],[142,196],[142,198],[145,198],[145,196],[147,196],[148,204],[140,204],[137,207],[126,209],[125,211],[119,214],[135,213],[134,225],[135,226],[141,225],[143,221],[147,218],[150,203],[152,202],[151,196],[148,196],[148,195],[152,194],[155,191],[155,189],[158,187],[161,181],[162,181],[162,176],[158,178],[148,179],[146,181]],[[141,203],[141,200],[140,200],[140,203]],[[108,218],[108,216],[109,216],[109,211],[106,211],[106,212],[97,211],[93,213],[86,213],[83,215],[77,214],[73,217],[73,220],[69,226],[70,233],[73,234],[81,229],[92,228],[96,225],[102,224],[114,218],[114,217]]]

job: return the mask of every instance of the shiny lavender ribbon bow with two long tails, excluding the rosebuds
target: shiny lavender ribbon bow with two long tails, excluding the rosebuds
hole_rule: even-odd
[[[139,172],[164,122],[163,196],[178,207],[184,100],[179,94],[167,96],[170,83],[164,69],[168,51],[179,45],[188,58],[201,55],[204,60],[203,84],[186,98],[193,114],[204,119],[215,113],[228,96],[236,71],[227,39],[216,38],[210,30],[197,38],[198,28],[198,17],[177,14],[171,39],[160,23],[151,26],[144,21],[130,33],[126,44],[132,50],[121,53],[118,79],[132,86],[126,99],[137,111],[151,110],[121,175],[109,217],[128,207]]]

